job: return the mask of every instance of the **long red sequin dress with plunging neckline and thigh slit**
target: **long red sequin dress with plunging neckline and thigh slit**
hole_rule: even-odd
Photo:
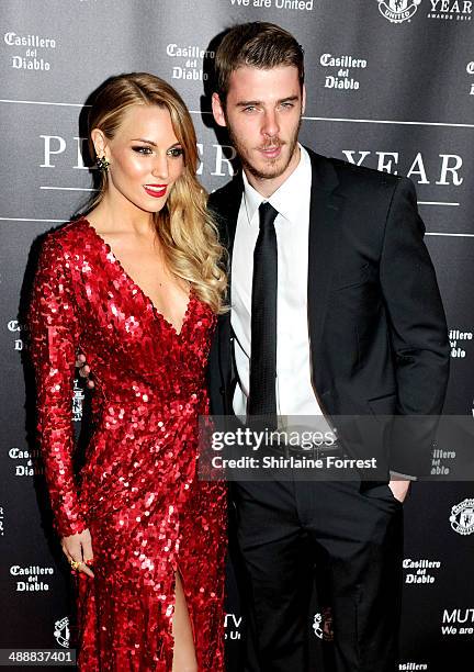
[[[38,429],[58,534],[90,529],[78,583],[79,668],[168,672],[179,570],[199,670],[224,669],[225,488],[199,481],[198,418],[215,316],[191,291],[181,332],[84,219],[46,236],[30,311]],[[95,381],[75,480],[77,350]]]

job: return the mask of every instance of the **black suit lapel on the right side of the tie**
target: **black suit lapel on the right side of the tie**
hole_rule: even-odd
[[[339,195],[338,177],[332,164],[313,152],[312,194],[309,208],[308,250],[308,327],[313,362],[313,380],[317,391],[324,391],[324,361],[320,343],[329,306],[329,289],[336,261],[339,211],[343,197]]]

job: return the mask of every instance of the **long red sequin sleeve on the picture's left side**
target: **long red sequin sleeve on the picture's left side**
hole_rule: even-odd
[[[60,537],[88,527],[74,478],[72,381],[79,340],[70,255],[47,237],[29,312],[37,391],[37,430],[55,526]]]

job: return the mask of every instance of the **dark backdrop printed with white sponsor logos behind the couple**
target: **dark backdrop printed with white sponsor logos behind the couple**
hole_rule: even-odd
[[[38,236],[69,220],[91,193],[83,150],[91,92],[132,70],[170,81],[192,112],[199,173],[211,191],[233,175],[228,141],[216,134],[210,113],[217,36],[257,20],[293,32],[306,58],[303,142],[408,176],[417,187],[451,331],[445,412],[472,418],[474,2],[2,0],[0,19],[0,648],[63,649],[74,601],[32,436],[22,315]],[[78,426],[87,401],[77,384]],[[433,473],[447,480],[417,484],[405,505],[399,670],[472,669],[474,484],[449,480],[454,452],[433,453]],[[330,601],[324,568],[315,571],[323,591],[308,615],[314,669],[330,670]],[[228,667],[238,671],[245,623],[230,570],[227,611]]]

